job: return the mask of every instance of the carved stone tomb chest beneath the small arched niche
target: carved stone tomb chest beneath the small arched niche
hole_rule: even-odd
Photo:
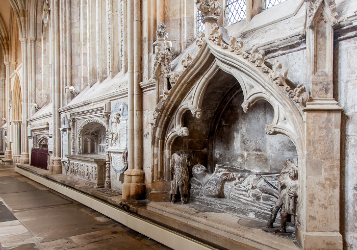
[[[105,155],[66,155],[69,160],[69,177],[94,188],[104,187]]]

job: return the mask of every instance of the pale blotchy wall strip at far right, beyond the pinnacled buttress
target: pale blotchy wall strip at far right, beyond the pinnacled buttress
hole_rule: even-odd
[[[357,39],[335,43],[335,98],[343,107],[341,117],[340,228],[344,247],[357,246]]]

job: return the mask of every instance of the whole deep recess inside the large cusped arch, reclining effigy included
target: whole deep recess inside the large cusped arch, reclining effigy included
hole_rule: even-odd
[[[273,207],[282,207],[276,203],[278,176],[287,159],[297,161],[297,151],[288,137],[267,128],[274,118],[268,102],[258,101],[247,113],[243,102],[236,78],[219,70],[203,96],[200,118],[192,110],[184,113],[181,127],[189,133],[174,139],[171,155],[191,156],[191,203],[268,221]]]

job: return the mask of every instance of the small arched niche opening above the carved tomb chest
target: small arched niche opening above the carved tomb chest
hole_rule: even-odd
[[[106,128],[102,124],[92,122],[83,129],[82,154],[106,154]]]

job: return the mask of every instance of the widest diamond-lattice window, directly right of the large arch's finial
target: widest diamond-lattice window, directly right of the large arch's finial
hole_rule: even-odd
[[[284,1],[284,0],[282,0]],[[247,17],[246,0],[227,0],[225,6],[226,12],[226,25],[231,25]]]

